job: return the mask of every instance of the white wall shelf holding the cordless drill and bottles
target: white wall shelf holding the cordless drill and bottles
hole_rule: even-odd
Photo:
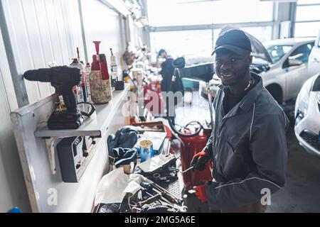
[[[48,126],[37,128],[34,135],[40,138],[65,138],[72,136],[95,136],[101,138],[108,129],[114,114],[117,112],[129,90],[124,84],[123,91],[112,92],[112,101],[108,104],[95,104],[97,118],[86,119],[78,129],[50,130]]]

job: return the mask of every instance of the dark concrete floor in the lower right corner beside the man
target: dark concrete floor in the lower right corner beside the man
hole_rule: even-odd
[[[287,132],[287,146],[287,181],[272,196],[266,212],[320,212],[320,159],[299,145],[293,126]]]

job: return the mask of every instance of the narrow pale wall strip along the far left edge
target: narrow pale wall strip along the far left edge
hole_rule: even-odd
[[[27,212],[31,209],[9,115],[18,103],[1,31],[0,52],[0,212],[13,206]]]

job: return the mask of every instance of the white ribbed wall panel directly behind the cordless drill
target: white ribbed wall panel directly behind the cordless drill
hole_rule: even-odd
[[[2,4],[19,74],[53,61],[69,65],[76,47],[84,56],[77,0],[2,0]],[[25,83],[30,103],[54,91],[48,83]]]

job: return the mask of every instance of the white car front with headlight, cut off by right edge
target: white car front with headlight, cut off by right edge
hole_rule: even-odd
[[[320,73],[308,79],[297,96],[294,133],[304,149],[320,157]]]

